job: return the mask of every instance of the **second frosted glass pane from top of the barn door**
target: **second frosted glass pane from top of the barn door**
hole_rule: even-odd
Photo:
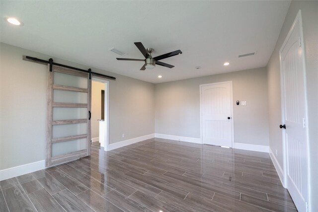
[[[87,104],[87,93],[65,90],[53,91],[53,102]]]

